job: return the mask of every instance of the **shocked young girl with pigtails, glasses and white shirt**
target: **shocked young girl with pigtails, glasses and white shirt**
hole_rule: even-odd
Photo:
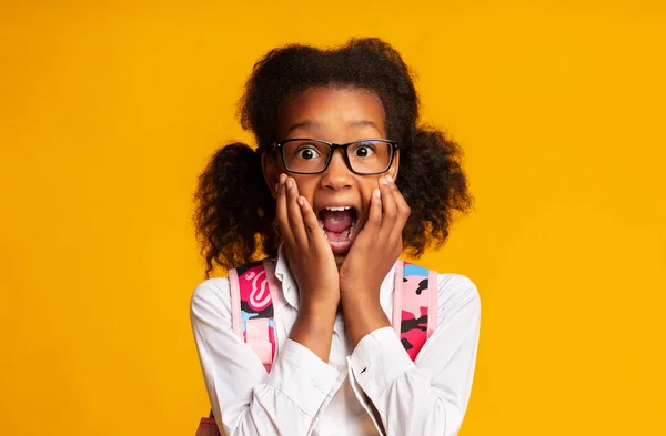
[[[400,254],[441,246],[471,203],[457,145],[417,124],[400,54],[379,39],[273,50],[254,65],[240,116],[256,149],[233,143],[212,156],[196,193],[198,235],[209,277],[215,265],[273,260],[266,316],[276,345],[271,367],[243,339],[256,333],[234,331],[230,278],[195,288],[192,328],[219,429],[457,434],[476,358],[476,287],[431,275],[437,323],[421,351],[405,332],[425,329],[418,320],[397,334],[390,321],[394,291],[411,280]],[[421,294],[427,280],[417,285]]]

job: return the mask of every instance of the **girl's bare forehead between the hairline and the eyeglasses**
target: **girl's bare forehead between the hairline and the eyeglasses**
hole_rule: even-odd
[[[289,98],[278,113],[278,135],[364,134],[385,136],[384,107],[377,94],[360,88],[310,88]],[[324,139],[324,138],[321,138]]]

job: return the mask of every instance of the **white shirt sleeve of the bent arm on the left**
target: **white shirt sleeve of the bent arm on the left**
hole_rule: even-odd
[[[190,318],[223,435],[306,436],[312,432],[334,394],[339,369],[287,339],[266,374],[259,357],[233,332],[228,278],[211,278],[194,290]]]

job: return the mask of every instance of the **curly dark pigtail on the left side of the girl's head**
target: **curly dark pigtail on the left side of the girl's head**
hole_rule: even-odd
[[[265,184],[261,155],[236,142],[218,150],[199,176],[194,195],[196,237],[206,277],[255,260],[258,242],[276,254],[274,200]]]

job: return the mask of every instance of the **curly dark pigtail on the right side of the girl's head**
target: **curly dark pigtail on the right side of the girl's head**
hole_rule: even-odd
[[[456,142],[431,128],[415,128],[406,136],[396,184],[412,209],[403,231],[405,250],[418,257],[444,244],[454,219],[468,212],[473,199]]]

